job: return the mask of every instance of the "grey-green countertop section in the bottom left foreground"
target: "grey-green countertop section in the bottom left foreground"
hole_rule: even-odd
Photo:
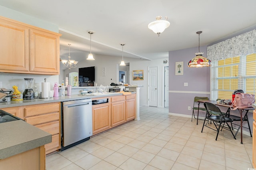
[[[52,141],[52,135],[25,121],[0,123],[0,159],[40,147]]]

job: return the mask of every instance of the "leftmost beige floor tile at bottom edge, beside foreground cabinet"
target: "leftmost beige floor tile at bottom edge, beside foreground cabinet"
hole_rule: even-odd
[[[47,163],[46,164],[46,169],[47,170],[58,170],[58,169],[65,168],[66,166],[68,166],[70,164],[72,164],[71,161],[64,158],[63,156],[60,156],[57,159]]]

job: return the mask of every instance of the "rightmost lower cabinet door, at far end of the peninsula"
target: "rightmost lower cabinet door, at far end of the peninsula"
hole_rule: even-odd
[[[126,95],[126,121],[135,119],[136,94]]]

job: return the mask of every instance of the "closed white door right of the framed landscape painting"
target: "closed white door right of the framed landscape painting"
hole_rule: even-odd
[[[148,105],[157,107],[157,67],[148,68]]]

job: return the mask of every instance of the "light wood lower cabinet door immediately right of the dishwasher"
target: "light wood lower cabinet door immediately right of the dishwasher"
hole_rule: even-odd
[[[92,134],[108,130],[111,125],[110,104],[99,104],[92,106]]]

